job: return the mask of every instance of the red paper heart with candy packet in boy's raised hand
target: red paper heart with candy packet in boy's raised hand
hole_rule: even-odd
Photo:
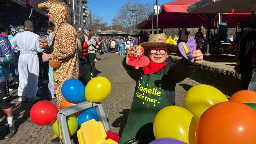
[[[130,66],[144,67],[149,64],[149,59],[144,56],[144,49],[140,45],[128,51],[127,54],[129,56],[128,65]]]

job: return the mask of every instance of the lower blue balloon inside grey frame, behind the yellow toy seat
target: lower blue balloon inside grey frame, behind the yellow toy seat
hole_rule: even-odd
[[[95,121],[99,121],[98,114],[95,108],[89,108],[89,109],[80,111],[77,119],[78,119],[79,127],[81,127],[81,124],[91,119],[95,119]]]

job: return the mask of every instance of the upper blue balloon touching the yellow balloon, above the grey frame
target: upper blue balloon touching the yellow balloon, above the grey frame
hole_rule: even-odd
[[[69,79],[61,86],[64,98],[71,102],[82,102],[85,100],[85,87],[77,79]]]

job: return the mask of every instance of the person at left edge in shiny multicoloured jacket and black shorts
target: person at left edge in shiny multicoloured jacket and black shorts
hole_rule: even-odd
[[[5,139],[11,138],[15,133],[15,126],[12,123],[13,111],[11,101],[9,100],[8,79],[10,78],[10,64],[14,63],[12,45],[5,32],[0,34],[0,107],[7,120],[7,129],[9,133]]]

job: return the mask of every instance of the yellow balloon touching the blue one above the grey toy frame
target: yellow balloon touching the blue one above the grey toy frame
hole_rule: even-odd
[[[110,81],[98,76],[89,81],[85,88],[85,99],[90,102],[98,102],[108,97],[111,91]]]

